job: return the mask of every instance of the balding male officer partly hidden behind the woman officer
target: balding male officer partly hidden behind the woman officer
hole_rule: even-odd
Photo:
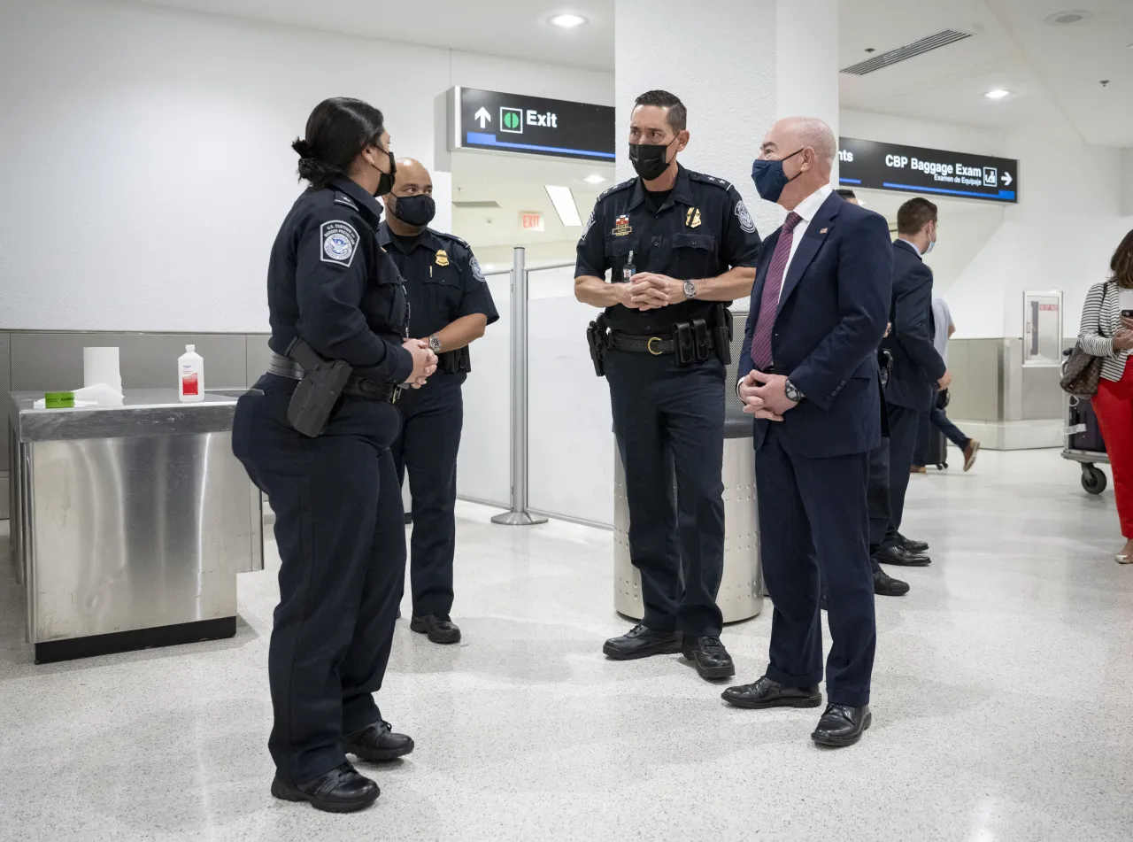
[[[401,435],[393,443],[398,479],[409,471],[412,619],[409,628],[435,644],[454,644],[452,559],[455,545],[457,450],[463,424],[460,385],[471,371],[468,346],[500,316],[468,244],[428,228],[436,212],[433,179],[418,161],[398,162],[389,213],[377,239],[406,279],[409,335],[437,355],[436,376],[398,401]]]

